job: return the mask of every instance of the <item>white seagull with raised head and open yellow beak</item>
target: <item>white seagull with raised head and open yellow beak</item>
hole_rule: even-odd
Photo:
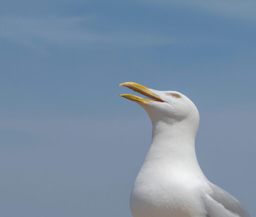
[[[194,103],[176,91],[121,83],[148,98],[135,101],[148,113],[152,143],[135,180],[130,208],[133,217],[250,217],[228,192],[208,181],[196,158],[199,113]]]

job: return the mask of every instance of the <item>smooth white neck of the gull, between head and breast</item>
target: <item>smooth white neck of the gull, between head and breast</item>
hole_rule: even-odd
[[[178,164],[182,169],[201,171],[195,153],[197,129],[191,129],[187,120],[172,125],[160,121],[153,123],[152,143],[144,163],[158,166],[165,163],[170,167]]]

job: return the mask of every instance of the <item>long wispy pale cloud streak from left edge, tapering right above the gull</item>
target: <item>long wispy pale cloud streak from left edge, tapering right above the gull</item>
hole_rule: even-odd
[[[161,46],[171,44],[219,43],[219,39],[201,36],[177,36],[150,31],[101,31],[85,27],[92,17],[76,18],[23,18],[2,17],[0,37],[30,48],[41,48],[42,43],[62,47],[96,45]]]

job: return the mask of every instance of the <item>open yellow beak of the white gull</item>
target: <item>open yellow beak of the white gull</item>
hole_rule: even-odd
[[[127,98],[129,100],[132,101],[137,101],[137,102],[142,102],[142,103],[148,103],[148,102],[164,102],[159,96],[157,96],[156,94],[154,94],[152,91],[150,91],[148,88],[137,84],[137,83],[133,83],[133,82],[125,82],[125,83],[121,83],[119,84],[119,87],[121,86],[125,86],[128,87],[144,96],[147,96],[151,99],[146,99],[143,97],[139,97],[139,96],[135,96],[132,94],[121,94],[120,96]]]

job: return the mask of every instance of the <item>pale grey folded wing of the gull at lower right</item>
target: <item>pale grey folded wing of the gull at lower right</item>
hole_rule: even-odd
[[[203,198],[209,217],[250,217],[237,199],[209,182],[212,191]]]

